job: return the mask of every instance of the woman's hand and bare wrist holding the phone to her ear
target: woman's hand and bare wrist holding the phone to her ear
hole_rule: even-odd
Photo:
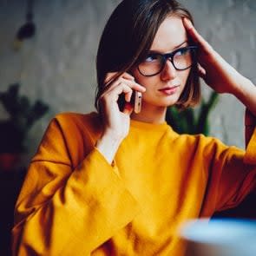
[[[108,73],[105,79],[106,85],[115,74]],[[146,91],[144,87],[135,82],[134,76],[123,73],[111,84],[108,84],[108,89],[99,98],[103,132],[95,147],[98,148],[109,163],[113,161],[121,141],[128,135],[130,114],[133,112],[133,106],[129,102],[133,89],[141,93]],[[125,95],[126,101],[123,111],[120,110],[117,103],[122,93]]]

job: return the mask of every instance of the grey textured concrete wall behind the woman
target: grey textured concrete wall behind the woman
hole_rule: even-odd
[[[0,90],[22,83],[22,94],[49,103],[50,111],[30,131],[30,154],[49,120],[62,111],[94,110],[95,54],[102,28],[117,0],[36,0],[36,36],[12,49],[24,21],[25,1],[0,2]],[[226,60],[256,83],[256,1],[182,0],[196,26]],[[216,74],[218,75],[218,74]],[[203,87],[207,97],[209,89]],[[243,147],[244,107],[232,95],[221,95],[211,115],[212,135]],[[3,117],[3,109],[0,108]]]

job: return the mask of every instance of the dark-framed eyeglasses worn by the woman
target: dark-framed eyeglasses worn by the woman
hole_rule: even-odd
[[[140,62],[138,70],[144,76],[158,75],[165,67],[167,60],[172,62],[176,70],[189,69],[196,62],[196,49],[197,46],[187,46],[167,54],[150,53]]]

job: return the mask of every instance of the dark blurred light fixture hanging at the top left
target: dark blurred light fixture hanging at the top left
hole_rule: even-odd
[[[36,34],[36,25],[33,22],[34,0],[27,0],[26,23],[24,23],[16,32],[14,48],[20,49],[25,39],[29,39]]]

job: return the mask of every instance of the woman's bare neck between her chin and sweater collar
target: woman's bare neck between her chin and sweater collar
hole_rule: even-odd
[[[131,119],[135,121],[144,121],[149,123],[163,123],[165,121],[167,108],[166,107],[155,107],[145,106],[141,108],[141,112],[131,114]]]

